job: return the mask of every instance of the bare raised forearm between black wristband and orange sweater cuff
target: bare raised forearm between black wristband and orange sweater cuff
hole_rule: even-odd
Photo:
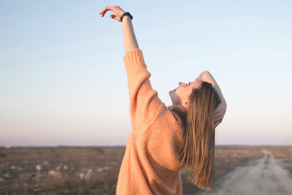
[[[139,49],[139,46],[135,37],[131,18],[128,15],[124,16],[122,23],[123,23],[122,25],[123,25],[123,34],[124,34],[125,54],[126,54],[128,51]]]

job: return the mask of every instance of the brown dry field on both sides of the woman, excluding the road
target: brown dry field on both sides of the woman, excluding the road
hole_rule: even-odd
[[[0,194],[115,194],[125,149],[1,148]],[[216,146],[216,175],[212,190],[222,191],[222,185],[228,185],[224,183],[228,182],[228,174],[246,172],[254,168],[253,165],[261,165],[260,162],[265,165],[267,155],[271,156],[269,159],[275,158],[278,162],[270,163],[270,166],[279,165],[279,169],[283,167],[291,177],[292,146]],[[209,193],[187,180],[189,173],[185,168],[180,173],[184,195]]]

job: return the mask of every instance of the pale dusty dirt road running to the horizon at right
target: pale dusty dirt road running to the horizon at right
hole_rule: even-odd
[[[291,173],[281,167],[272,153],[262,149],[264,156],[247,166],[237,167],[222,178],[220,186],[200,195],[291,195]]]

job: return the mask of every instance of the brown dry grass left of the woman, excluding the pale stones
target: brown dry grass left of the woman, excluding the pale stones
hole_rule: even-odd
[[[0,183],[0,194],[115,194],[124,153],[125,147],[0,149],[0,177],[8,176]],[[43,167],[39,173],[38,164]],[[90,169],[90,180],[82,180],[80,173]],[[58,175],[48,175],[50,170]],[[21,174],[34,176],[21,179]]]

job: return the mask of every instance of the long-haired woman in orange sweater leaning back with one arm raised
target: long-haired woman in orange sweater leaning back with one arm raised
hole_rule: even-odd
[[[131,18],[119,6],[106,6],[111,18],[122,22],[124,64],[128,79],[132,130],[117,182],[119,194],[182,194],[180,170],[189,179],[211,189],[214,181],[215,127],[222,121],[226,101],[214,78],[204,71],[189,83],[170,91],[166,107],[152,89],[150,72],[134,34]]]

